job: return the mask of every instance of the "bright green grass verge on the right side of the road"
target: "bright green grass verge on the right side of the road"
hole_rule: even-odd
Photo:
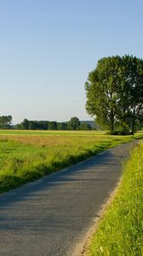
[[[143,255],[143,142],[124,166],[122,183],[100,221],[87,255]]]

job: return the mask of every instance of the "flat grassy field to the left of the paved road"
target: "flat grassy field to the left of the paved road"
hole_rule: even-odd
[[[132,139],[103,131],[0,131],[0,192]]]

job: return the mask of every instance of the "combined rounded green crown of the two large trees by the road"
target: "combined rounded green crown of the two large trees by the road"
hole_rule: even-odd
[[[100,59],[85,83],[86,109],[111,132],[124,133],[143,119],[143,60],[124,55]]]

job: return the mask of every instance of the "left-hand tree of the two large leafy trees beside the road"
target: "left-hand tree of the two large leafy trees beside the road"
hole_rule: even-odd
[[[110,131],[113,131],[117,119],[120,67],[121,57],[103,58],[98,61],[94,71],[89,73],[85,83],[88,113],[96,116],[96,121]]]

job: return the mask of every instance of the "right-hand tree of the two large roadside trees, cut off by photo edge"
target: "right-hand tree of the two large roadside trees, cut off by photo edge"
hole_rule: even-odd
[[[129,124],[134,134],[135,126],[143,117],[143,60],[123,56],[122,89],[120,96],[120,116],[123,124]]]

